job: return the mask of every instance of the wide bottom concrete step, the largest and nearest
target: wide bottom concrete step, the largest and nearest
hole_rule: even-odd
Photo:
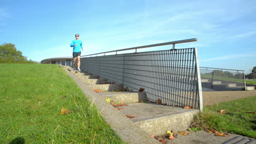
[[[166,106],[154,103],[133,103],[118,110],[131,118],[139,128],[150,135],[162,135],[167,130],[182,131],[188,129],[198,110]]]

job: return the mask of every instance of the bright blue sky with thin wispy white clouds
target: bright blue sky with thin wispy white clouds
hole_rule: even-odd
[[[15,44],[28,59],[71,57],[75,33],[82,55],[197,38],[176,47],[197,47],[201,67],[249,73],[256,66],[254,0],[1,0],[0,44]]]

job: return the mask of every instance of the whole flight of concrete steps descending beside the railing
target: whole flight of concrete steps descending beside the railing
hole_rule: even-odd
[[[114,92],[120,91],[123,85],[107,79],[100,79],[100,77],[86,71],[73,71],[71,68],[68,70],[83,81],[86,87],[101,90],[102,92],[98,93],[99,97],[110,98],[110,100],[122,101],[123,104],[127,104],[127,106],[119,106],[123,109],[117,111],[123,113],[124,117],[135,115],[136,117],[130,120],[150,135],[162,135],[167,130],[185,130],[198,111],[156,103],[139,103],[139,101],[147,101],[145,92]]]

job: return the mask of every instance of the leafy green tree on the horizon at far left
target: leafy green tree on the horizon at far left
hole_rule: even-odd
[[[22,56],[14,44],[5,43],[0,45],[0,63],[36,63],[32,60],[27,61],[27,57]]]

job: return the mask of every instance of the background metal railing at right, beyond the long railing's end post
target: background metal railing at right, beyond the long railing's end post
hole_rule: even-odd
[[[242,91],[246,89],[245,71],[200,67],[203,88],[208,91]]]

